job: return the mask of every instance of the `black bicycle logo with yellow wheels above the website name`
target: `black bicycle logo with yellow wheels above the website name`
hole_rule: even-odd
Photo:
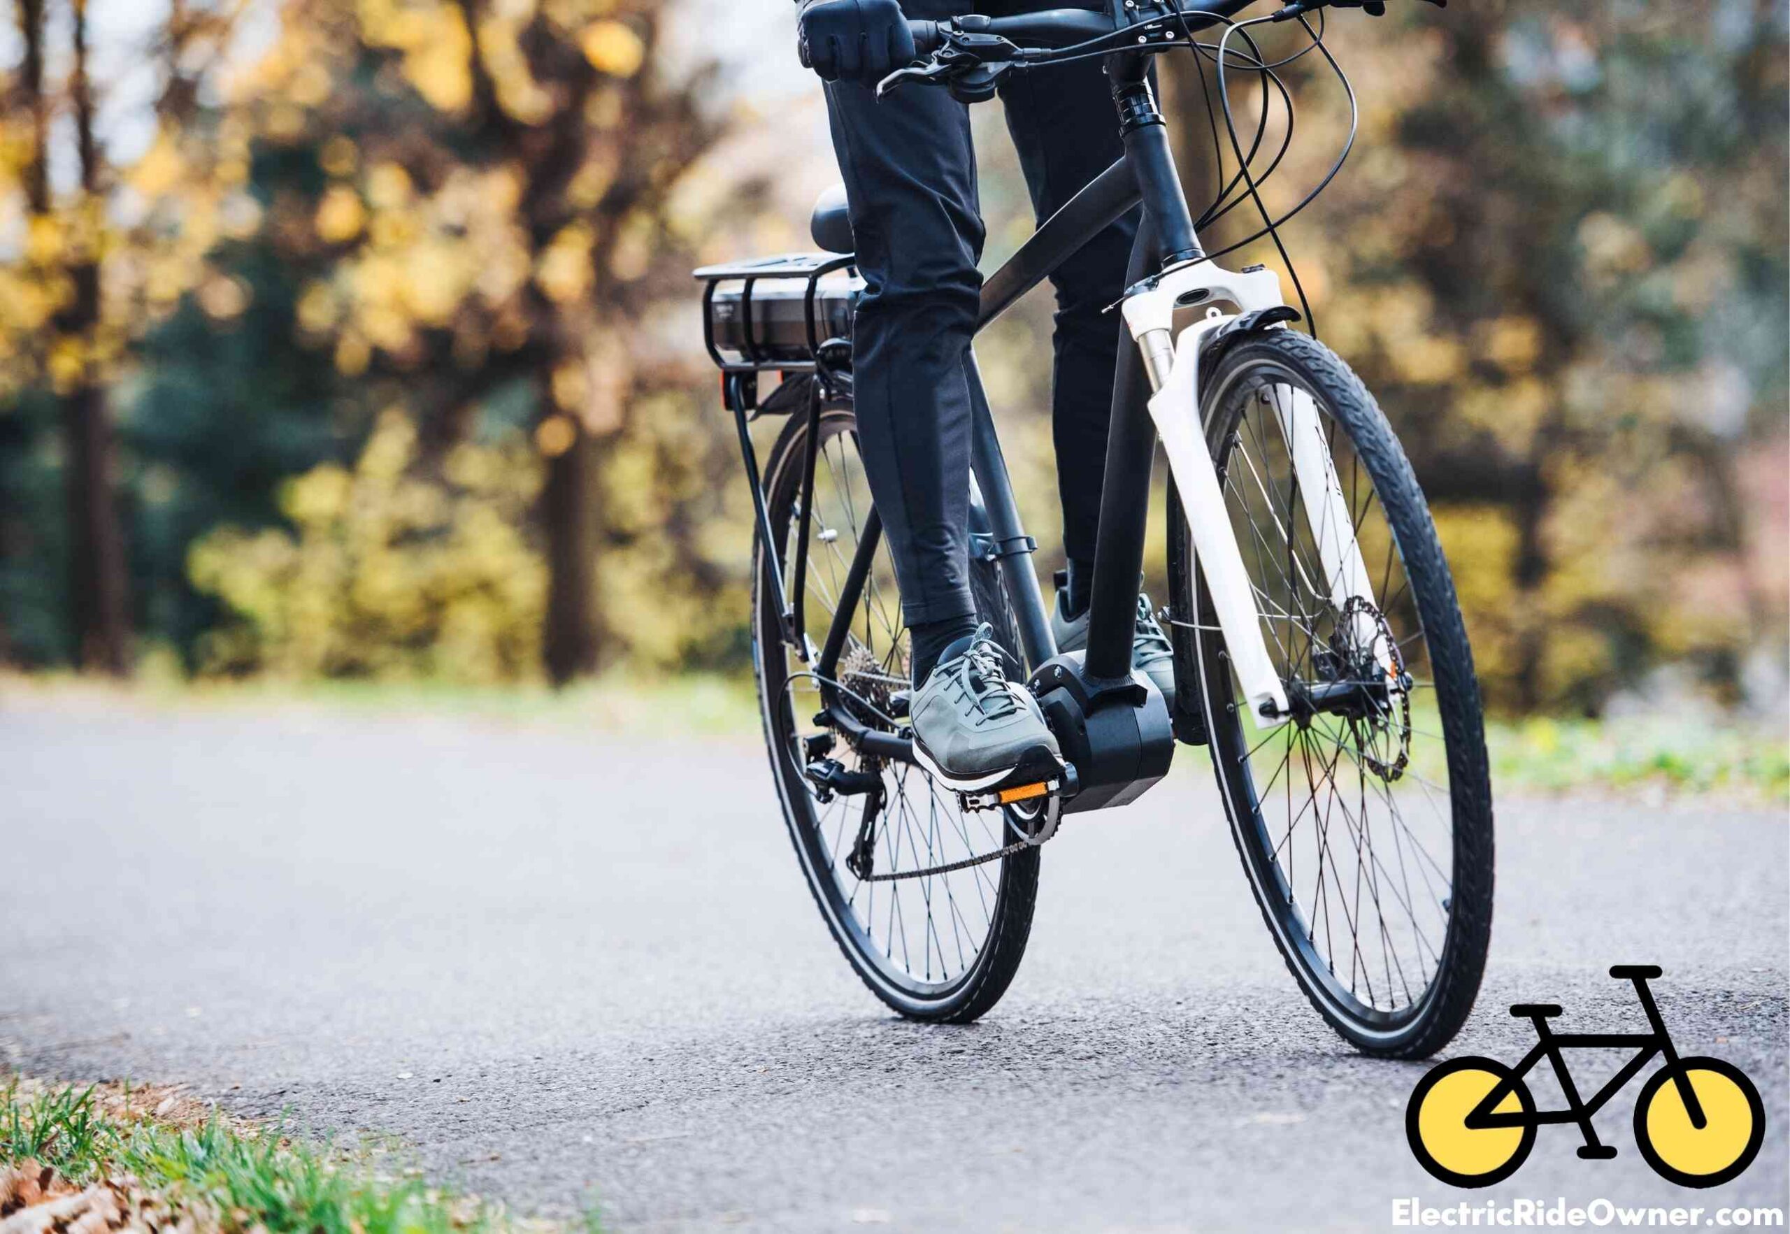
[[[1661,1178],[1681,1187],[1715,1187],[1738,1178],[1765,1141],[1765,1103],[1740,1067],[1722,1058],[1681,1057],[1654,1003],[1650,964],[1618,964],[1609,971],[1618,981],[1634,981],[1634,994],[1647,1014],[1645,1033],[1556,1033],[1548,1019],[1561,1014],[1554,1003],[1516,1003],[1511,1015],[1534,1023],[1536,1044],[1514,1067],[1495,1058],[1453,1058],[1434,1067],[1411,1093],[1405,1135],[1418,1162],[1457,1187],[1489,1187],[1516,1173],[1536,1144],[1536,1128],[1575,1123],[1584,1135],[1579,1157],[1609,1161],[1613,1144],[1597,1137],[1591,1119],[1652,1057],[1665,1064],[1649,1076],[1634,1100],[1634,1143]],[[1590,1100],[1579,1096],[1566,1066],[1568,1050],[1627,1050],[1636,1053]],[[1536,1064],[1554,1066],[1564,1110],[1536,1110],[1523,1084]]]

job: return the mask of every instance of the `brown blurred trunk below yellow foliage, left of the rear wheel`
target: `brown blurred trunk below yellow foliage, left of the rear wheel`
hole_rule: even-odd
[[[550,398],[550,396],[548,396]],[[551,403],[548,403],[551,405]],[[601,493],[596,442],[571,419],[571,446],[548,458],[541,521],[548,539],[548,613],[544,661],[548,677],[564,686],[596,672],[601,618],[596,611],[596,553]]]

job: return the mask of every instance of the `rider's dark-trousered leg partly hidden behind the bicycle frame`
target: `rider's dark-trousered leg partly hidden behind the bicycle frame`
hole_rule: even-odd
[[[1013,73],[1001,99],[1040,222],[1124,154],[1119,116],[1097,59]],[[1124,294],[1138,220],[1140,211],[1131,211],[1051,276],[1056,290],[1051,424],[1069,557],[1067,616],[1087,611],[1094,578],[1106,428],[1122,333],[1119,313],[1106,308]]]

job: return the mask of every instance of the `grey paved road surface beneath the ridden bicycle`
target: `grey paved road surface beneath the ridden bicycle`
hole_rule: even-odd
[[[1656,962],[1681,1050],[1742,1064],[1772,1125],[1695,1195],[1618,1100],[1616,1161],[1543,1130],[1493,1195],[1785,1205],[1783,815],[1505,801],[1498,826],[1455,1053],[1514,1060],[1518,999],[1632,1024],[1604,969]],[[1355,1057],[1294,992],[1196,759],[1065,827],[1006,1001],[922,1028],[834,951],[754,745],[0,709],[7,1062],[396,1132],[618,1230],[1377,1230],[1394,1196],[1464,1195],[1403,1146],[1421,1067]]]

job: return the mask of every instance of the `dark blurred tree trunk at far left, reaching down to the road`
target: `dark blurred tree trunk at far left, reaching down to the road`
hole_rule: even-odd
[[[75,66],[70,97],[81,156],[82,206],[98,193],[100,154],[93,138],[93,91],[88,82],[88,5],[73,4]],[[115,677],[131,672],[129,571],[124,532],[113,501],[113,435],[100,374],[88,355],[100,324],[100,258],[82,253],[68,270],[73,301],[57,322],[82,351],[77,385],[63,396],[63,485],[68,510],[70,600],[75,656],[84,670]]]

